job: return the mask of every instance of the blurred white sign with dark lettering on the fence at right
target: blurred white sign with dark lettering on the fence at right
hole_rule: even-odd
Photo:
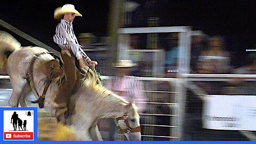
[[[256,95],[207,95],[202,115],[205,129],[256,131]]]

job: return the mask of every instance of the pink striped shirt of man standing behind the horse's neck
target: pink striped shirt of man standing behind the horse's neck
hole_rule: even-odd
[[[134,102],[139,113],[146,110],[145,102],[147,102],[147,98],[143,92],[144,85],[137,78],[133,76],[115,77],[107,82],[106,88],[128,102]]]

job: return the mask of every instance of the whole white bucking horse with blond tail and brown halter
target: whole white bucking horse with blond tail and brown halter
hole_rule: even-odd
[[[47,79],[51,78],[53,81],[45,93],[44,109],[54,114],[52,101],[60,86],[60,81],[56,79],[62,75],[58,60],[42,47],[21,47],[10,34],[0,31],[0,62],[13,86],[9,100],[11,107],[18,107],[19,103],[27,107],[25,97],[33,91],[38,99]],[[29,75],[30,69],[32,73]],[[102,118],[116,118],[117,126],[128,140],[141,140],[137,107],[96,84],[90,76],[76,86],[70,99],[70,108],[72,111],[67,120],[68,125],[81,140],[102,140],[97,126]]]

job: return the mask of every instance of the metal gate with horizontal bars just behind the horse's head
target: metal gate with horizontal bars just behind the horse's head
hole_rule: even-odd
[[[113,77],[103,76],[103,79]],[[140,115],[142,140],[169,141],[180,140],[182,123],[179,121],[179,92],[176,89],[177,78],[137,77],[145,86],[147,97],[146,110]],[[106,122],[107,123],[107,122]],[[105,123],[105,124],[106,124]],[[108,140],[108,132],[105,140]],[[126,140],[118,132],[115,140]]]

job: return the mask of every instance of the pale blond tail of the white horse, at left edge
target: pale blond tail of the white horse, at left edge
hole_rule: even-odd
[[[20,49],[21,44],[9,33],[0,31],[0,68],[4,68],[8,57],[15,50]]]

